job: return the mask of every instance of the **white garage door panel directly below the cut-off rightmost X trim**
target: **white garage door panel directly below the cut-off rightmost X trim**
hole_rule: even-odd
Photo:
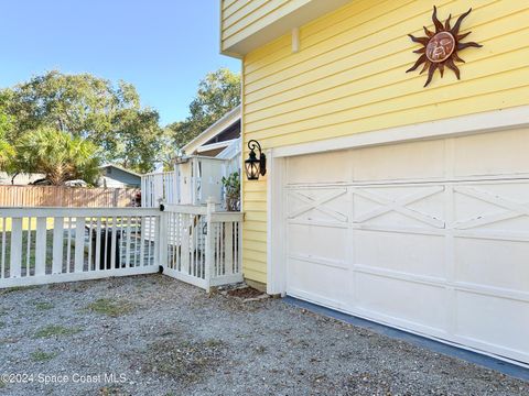
[[[456,238],[455,280],[529,290],[529,243],[519,241]]]

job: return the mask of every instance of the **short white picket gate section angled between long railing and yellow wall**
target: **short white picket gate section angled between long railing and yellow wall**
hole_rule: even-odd
[[[242,213],[216,212],[210,201],[206,207],[166,205],[164,210],[164,274],[207,290],[242,282]]]

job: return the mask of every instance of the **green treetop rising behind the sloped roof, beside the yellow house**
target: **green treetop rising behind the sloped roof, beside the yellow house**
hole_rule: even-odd
[[[165,128],[165,133],[173,140],[172,150],[181,150],[239,103],[240,74],[228,68],[207,74],[198,84],[196,97],[190,105],[190,116]]]

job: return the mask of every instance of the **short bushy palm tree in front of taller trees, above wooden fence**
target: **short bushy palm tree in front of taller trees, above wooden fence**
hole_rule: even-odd
[[[55,186],[74,179],[95,185],[99,164],[94,143],[50,127],[24,134],[17,144],[17,170],[42,173]]]

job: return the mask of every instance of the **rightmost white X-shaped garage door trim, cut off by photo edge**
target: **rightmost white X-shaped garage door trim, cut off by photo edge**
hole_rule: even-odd
[[[509,199],[500,197],[498,195],[479,190],[477,188],[465,187],[465,186],[457,186],[454,187],[455,193],[463,194],[471,198],[476,198],[483,202],[493,204],[497,207],[507,209],[498,213],[487,215],[487,216],[478,216],[474,219],[456,222],[454,224],[455,229],[460,230],[467,230],[471,228],[476,228],[481,226],[490,224],[493,222],[514,219],[520,216],[529,216],[529,208],[525,205],[520,205],[518,202],[514,202]]]

